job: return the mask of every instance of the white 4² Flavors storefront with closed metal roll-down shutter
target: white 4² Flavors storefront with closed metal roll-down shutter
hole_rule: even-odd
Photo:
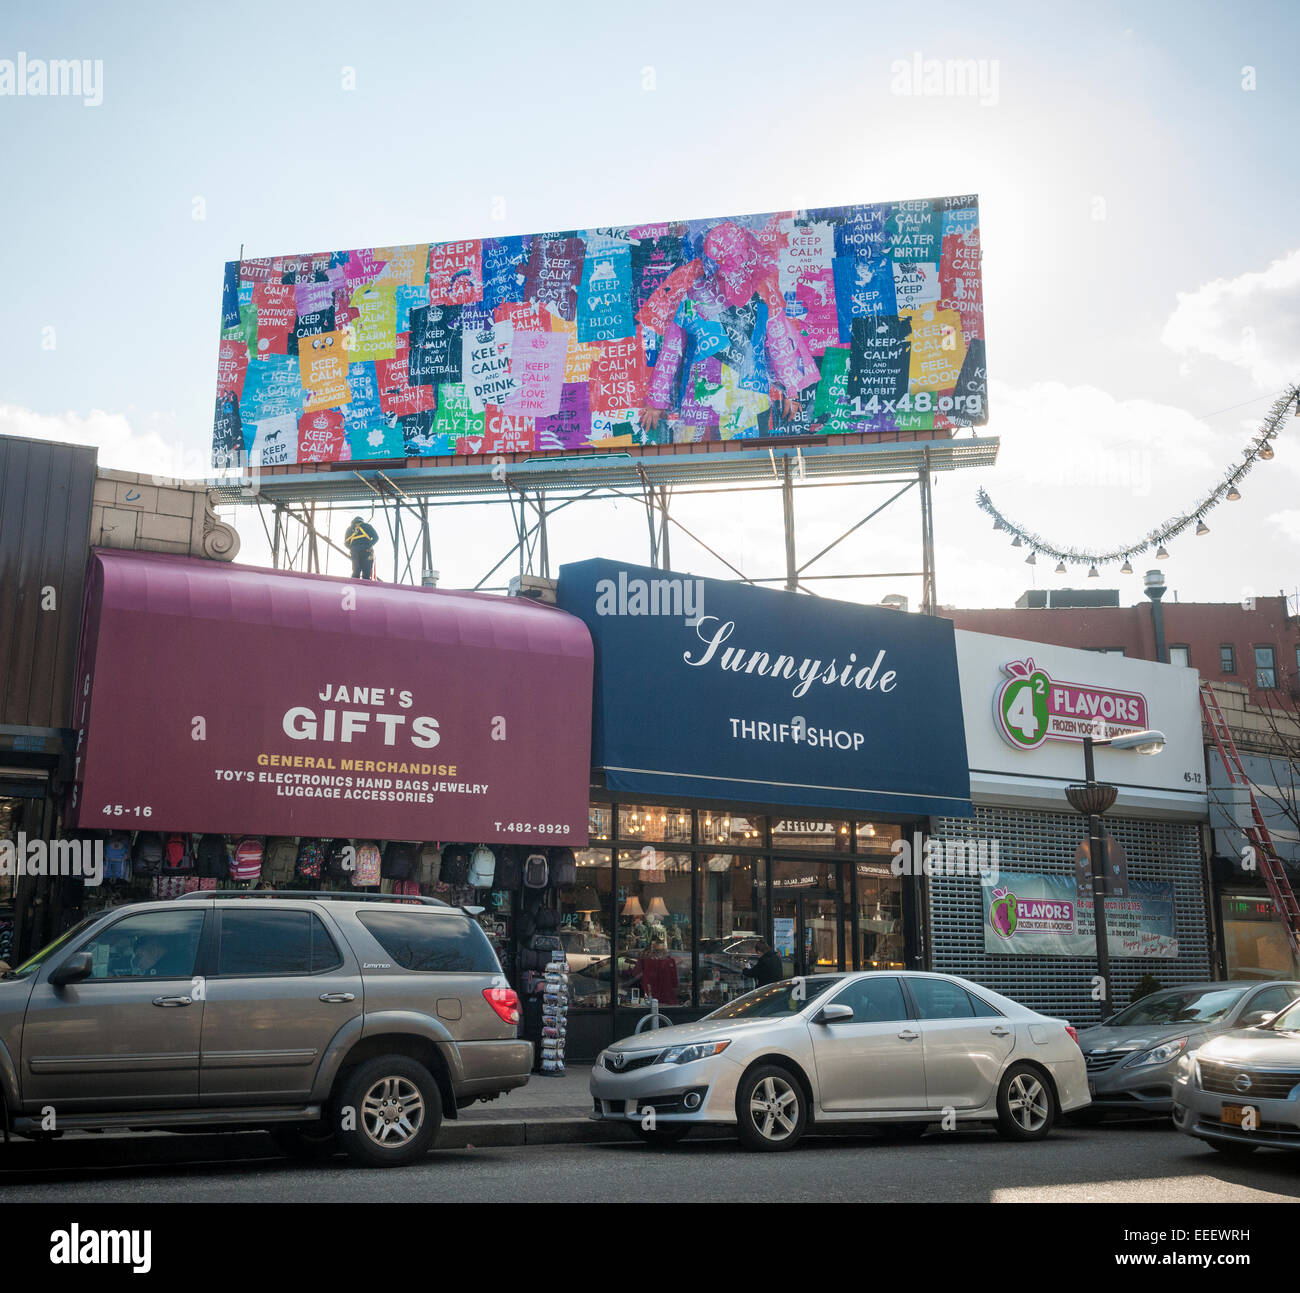
[[[1083,736],[1100,717],[1109,734],[1154,728],[1166,738],[1158,755],[1096,749],[1097,780],[1118,787],[1105,826],[1126,863],[1113,914],[1108,901],[1115,1002],[1144,975],[1212,977],[1196,671],[965,630],[957,661],[975,816],[935,817],[932,829],[936,845],[992,850],[998,880],[930,877],[928,964],[1074,1023],[1100,1018],[1096,956],[1084,953],[1095,946],[1078,855],[1087,823],[1065,793],[1084,780]],[[1019,914],[1018,928],[991,912],[997,889],[1010,894],[1001,901]],[[1041,901],[1017,903],[1017,893]],[[1039,919],[1044,911],[1053,919]]]

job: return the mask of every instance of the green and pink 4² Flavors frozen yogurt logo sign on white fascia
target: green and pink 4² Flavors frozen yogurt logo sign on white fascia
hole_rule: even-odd
[[[1044,741],[1105,738],[1147,726],[1147,698],[1138,691],[1062,682],[1032,658],[1002,665],[1006,681],[993,697],[993,720],[1017,750],[1036,750]]]

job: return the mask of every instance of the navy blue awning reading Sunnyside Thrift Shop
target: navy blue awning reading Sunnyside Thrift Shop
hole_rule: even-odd
[[[611,790],[970,815],[950,621],[608,560],[558,603],[595,643]]]

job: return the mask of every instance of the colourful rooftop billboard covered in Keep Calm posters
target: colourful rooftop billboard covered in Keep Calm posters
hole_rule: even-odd
[[[218,467],[987,421],[974,195],[225,268]]]

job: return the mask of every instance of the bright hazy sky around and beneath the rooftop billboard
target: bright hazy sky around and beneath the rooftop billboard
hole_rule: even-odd
[[[222,265],[240,248],[975,192],[980,434],[1001,450],[994,467],[936,476],[939,600],[1009,606],[1031,586],[1091,585],[1130,604],[1153,560],[1096,581],[1028,567],[975,494],[1060,547],[1131,543],[1213,489],[1300,381],[1297,38],[1286,0],[0,0],[0,60],[101,68],[82,99],[0,92],[0,434],[92,443],[103,467],[203,474]],[[916,58],[975,60],[976,92],[906,92],[901,68]],[[1296,591],[1297,486],[1288,417],[1243,499],[1208,517],[1208,535],[1170,544],[1170,595]],[[800,559],[880,496],[797,493]],[[256,512],[222,515],[240,560],[269,563]],[[779,494],[679,496],[673,515],[745,574],[784,570]],[[515,533],[500,506],[436,509],[432,529],[443,587],[476,585]],[[894,504],[810,573],[916,569],[918,535],[915,506]],[[550,546],[552,567],[644,563],[645,513],[571,507]],[[680,530],[672,559],[727,574]],[[386,561],[381,544],[381,576]],[[818,591],[915,606],[920,590],[897,578]]]

